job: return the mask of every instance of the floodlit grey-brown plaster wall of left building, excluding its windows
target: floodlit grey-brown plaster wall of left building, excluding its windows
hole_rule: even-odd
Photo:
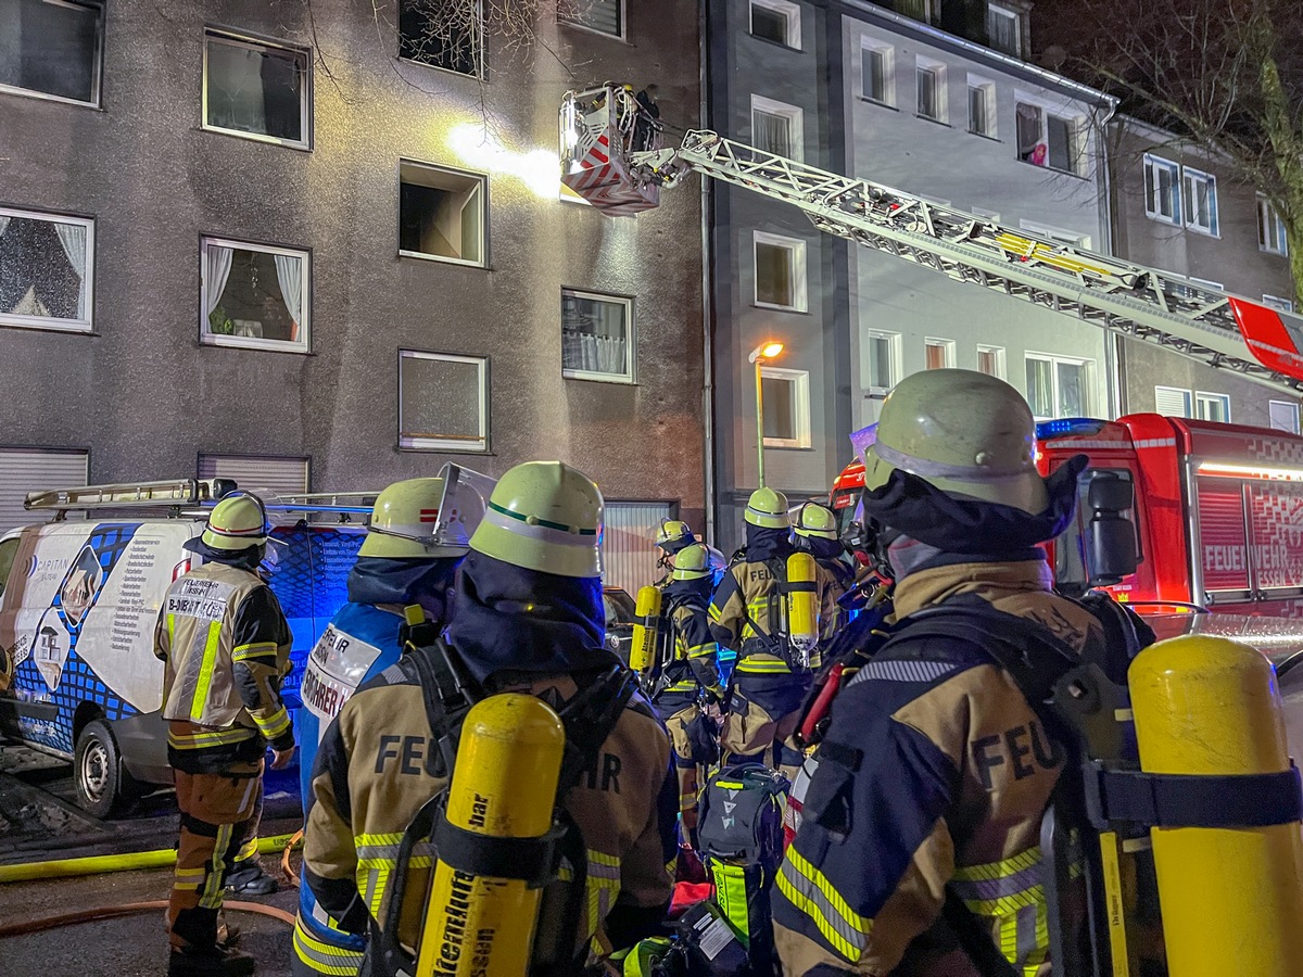
[[[509,152],[555,155],[562,94],[605,78],[694,121],[696,3],[628,4],[628,43],[541,23],[532,53],[491,47],[486,85],[397,61],[394,4],[371,7],[318,3],[314,27],[298,3],[112,3],[102,111],[0,94],[0,202],[96,221],[94,335],[0,328],[0,443],[90,447],[93,481],[306,455],[319,490],[560,457],[700,513],[696,186],[612,220],[450,143],[487,115]],[[315,48],[311,152],[201,129],[205,25]],[[400,158],[489,172],[487,270],[397,257]],[[310,354],[199,344],[201,234],[311,250]],[[635,297],[636,386],[562,378],[562,287]],[[400,348],[490,357],[490,456],[397,451]]]

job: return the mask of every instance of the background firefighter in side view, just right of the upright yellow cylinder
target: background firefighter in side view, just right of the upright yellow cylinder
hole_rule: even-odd
[[[710,551],[701,543],[680,550],[661,611],[662,627],[667,629],[667,660],[661,667],[659,688],[652,698],[670,732],[679,775],[679,818],[693,848],[697,847],[701,769],[718,758],[709,756],[718,732],[701,706],[704,700],[719,703],[724,698],[719,645],[710,632],[708,611],[711,582]],[[718,754],[718,749],[713,752]]]

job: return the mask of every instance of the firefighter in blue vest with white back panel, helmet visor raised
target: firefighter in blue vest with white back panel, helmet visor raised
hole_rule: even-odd
[[[330,720],[358,685],[399,660],[403,608],[420,604],[437,627],[446,623],[447,595],[466,548],[437,537],[443,491],[442,478],[409,478],[375,498],[366,539],[348,574],[348,603],[313,649],[304,677],[304,707],[296,716],[304,808],[311,804],[313,761]],[[365,951],[365,938],[340,930],[311,890],[300,886],[294,976],[356,974]]]

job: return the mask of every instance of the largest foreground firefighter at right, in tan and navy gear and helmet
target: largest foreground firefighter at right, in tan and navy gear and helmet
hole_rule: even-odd
[[[997,662],[1014,642],[1033,663],[1108,649],[1037,546],[1068,525],[1085,459],[1042,479],[1035,451],[1027,403],[985,374],[913,374],[882,406],[863,512],[895,617],[807,765],[774,891],[786,973],[1050,973],[1038,845],[1066,752]]]

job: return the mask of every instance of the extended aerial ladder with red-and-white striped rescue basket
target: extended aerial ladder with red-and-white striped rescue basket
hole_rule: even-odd
[[[799,207],[820,231],[993,292],[1303,393],[1303,317],[1171,272],[1050,241],[872,180],[693,129],[678,147],[629,86],[567,92],[562,182],[611,216],[650,210],[661,188],[702,173]]]

